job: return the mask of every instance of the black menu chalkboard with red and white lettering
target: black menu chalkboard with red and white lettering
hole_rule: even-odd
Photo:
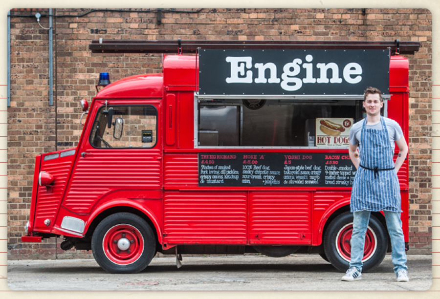
[[[355,173],[348,154],[198,154],[200,187],[352,187]]]

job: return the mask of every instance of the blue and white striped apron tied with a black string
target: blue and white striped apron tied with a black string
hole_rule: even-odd
[[[382,129],[368,129],[367,119],[362,126],[360,166],[352,187],[351,212],[401,212],[399,181],[396,170],[393,169],[394,149],[391,147],[383,117],[380,117],[380,122]]]

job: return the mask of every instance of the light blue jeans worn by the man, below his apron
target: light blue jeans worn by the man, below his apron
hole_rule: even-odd
[[[399,269],[407,270],[405,239],[402,231],[402,221],[400,213],[383,211],[387,222],[388,234],[391,239],[391,260],[394,265],[394,272]],[[350,267],[356,267],[362,271],[362,258],[364,256],[365,233],[367,232],[368,222],[370,221],[370,211],[353,212],[353,233],[352,233],[352,252]]]

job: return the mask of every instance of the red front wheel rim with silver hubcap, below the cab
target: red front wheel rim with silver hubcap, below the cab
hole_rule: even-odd
[[[110,228],[102,242],[104,254],[118,265],[134,263],[144,252],[144,238],[134,226],[118,224]]]

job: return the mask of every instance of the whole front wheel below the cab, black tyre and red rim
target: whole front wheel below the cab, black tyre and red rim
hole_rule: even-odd
[[[155,238],[150,225],[130,213],[112,214],[96,227],[91,248],[96,262],[110,273],[137,273],[154,257]]]

